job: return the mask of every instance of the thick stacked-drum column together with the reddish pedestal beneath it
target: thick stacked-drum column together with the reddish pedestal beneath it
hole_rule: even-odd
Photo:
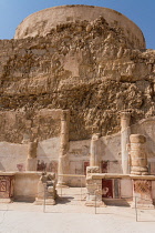
[[[130,136],[131,174],[133,179],[133,203],[132,206],[154,209],[152,197],[152,181],[149,180],[147,166],[147,153],[145,149],[146,138],[141,134]],[[143,179],[142,176],[143,175]],[[137,176],[137,178],[136,178]]]

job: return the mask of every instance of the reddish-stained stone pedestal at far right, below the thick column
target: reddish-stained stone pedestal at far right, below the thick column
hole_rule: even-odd
[[[133,180],[132,207],[154,209],[152,199],[152,181]]]

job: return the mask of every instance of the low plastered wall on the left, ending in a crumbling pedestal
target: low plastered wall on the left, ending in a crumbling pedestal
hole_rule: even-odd
[[[55,174],[42,172],[0,172],[0,203],[12,201],[55,204]],[[40,201],[40,203],[39,203]]]

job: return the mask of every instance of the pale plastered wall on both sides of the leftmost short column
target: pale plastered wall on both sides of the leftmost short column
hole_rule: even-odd
[[[60,138],[39,142],[37,151],[38,171],[56,172],[59,149]],[[28,144],[0,142],[0,171],[25,171],[27,158]],[[55,168],[52,168],[51,162],[54,161]]]

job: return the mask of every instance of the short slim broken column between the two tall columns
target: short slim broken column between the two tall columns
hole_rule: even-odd
[[[92,135],[90,149],[90,166],[100,166],[100,158],[97,153],[100,133]]]

